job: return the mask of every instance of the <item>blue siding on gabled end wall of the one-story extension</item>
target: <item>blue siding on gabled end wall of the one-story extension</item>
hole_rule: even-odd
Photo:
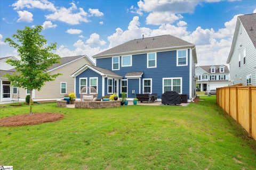
[[[90,86],[90,78],[98,78],[98,98],[102,97],[102,76],[91,69],[87,69],[76,77],[76,96],[80,98],[80,89],[79,89],[79,78],[87,78],[87,87]]]

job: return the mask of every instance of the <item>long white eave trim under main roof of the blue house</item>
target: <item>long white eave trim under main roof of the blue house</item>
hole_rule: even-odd
[[[186,46],[174,46],[174,47],[165,47],[165,48],[154,48],[154,49],[145,49],[145,50],[135,50],[131,52],[125,52],[125,53],[114,53],[114,54],[107,54],[107,55],[101,55],[101,56],[92,56],[93,58],[106,58],[110,56],[116,56],[116,55],[127,55],[127,54],[132,54],[132,55],[137,55],[137,54],[145,54],[148,52],[166,52],[170,50],[177,50],[179,48],[189,48],[189,47],[195,47],[195,45],[186,45]]]

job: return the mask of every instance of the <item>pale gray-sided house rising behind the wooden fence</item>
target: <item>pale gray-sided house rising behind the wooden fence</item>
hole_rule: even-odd
[[[238,16],[227,63],[230,84],[256,85],[256,13]]]

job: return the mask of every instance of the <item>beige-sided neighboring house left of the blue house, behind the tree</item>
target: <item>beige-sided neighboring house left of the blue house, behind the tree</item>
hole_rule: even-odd
[[[75,79],[70,77],[77,68],[85,64],[94,65],[86,55],[62,57],[60,63],[52,65],[47,72],[61,73],[54,81],[46,82],[40,91],[33,90],[34,101],[57,100],[64,95],[75,91]],[[12,74],[15,69],[9,71],[0,70],[0,101],[11,101],[13,94],[19,94],[20,100],[25,100],[30,94],[27,89],[12,87],[10,81],[3,77],[4,74]]]

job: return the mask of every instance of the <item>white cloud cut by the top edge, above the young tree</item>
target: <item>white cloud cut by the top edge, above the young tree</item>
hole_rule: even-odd
[[[23,8],[39,8],[41,10],[56,11],[53,3],[46,0],[18,0],[12,4],[14,10],[22,10]]]

